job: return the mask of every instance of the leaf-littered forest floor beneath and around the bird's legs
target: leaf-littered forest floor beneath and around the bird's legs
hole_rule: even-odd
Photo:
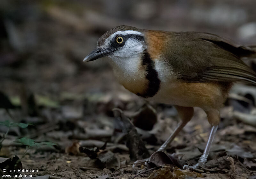
[[[100,72],[96,73],[101,75]],[[105,73],[104,78],[109,79],[107,84],[110,84],[112,76],[107,77],[106,74],[108,73]],[[84,85],[84,88],[86,86],[89,88],[90,83]],[[239,88],[243,89],[244,86],[235,89]],[[167,148],[169,156],[160,153],[153,160],[156,164],[154,167],[160,168],[142,173],[138,178],[255,177],[256,128],[239,120],[254,116],[252,113],[255,107],[250,102],[253,100],[252,95],[249,95],[251,98],[246,98],[248,95],[244,97],[241,94],[236,96],[232,93],[221,110],[220,126],[205,168],[194,171],[181,169],[184,164],[196,163],[210,131],[206,114],[195,108],[192,120]],[[23,96],[25,99],[27,97]],[[150,155],[160,147],[179,122],[172,106],[147,103],[123,88],[117,93],[79,96],[63,94],[59,101],[35,96],[41,102],[33,108],[34,111],[30,111],[33,117],[24,116],[24,106],[35,104],[28,98],[20,103],[21,108],[18,105],[15,109],[9,109],[12,118],[4,109],[0,111],[1,119],[33,124],[28,128],[10,128],[0,155],[22,157],[26,145],[13,142],[19,136],[26,136],[36,142],[51,141],[57,144],[54,147],[31,147],[21,159],[24,169],[38,169],[33,175],[43,175],[45,178],[132,178],[152,166],[147,168],[144,163],[133,165],[136,158],[142,159],[146,155],[136,155],[136,152],[134,154],[131,151],[131,144],[127,141],[131,143],[131,137],[136,134],[127,135],[134,126],[127,127],[125,120],[129,118],[136,126],[138,136],[146,144]],[[15,97],[11,99],[15,102]],[[113,108],[122,109],[123,113],[115,110],[114,114]],[[22,115],[24,117],[20,118]],[[1,126],[1,131],[6,130],[6,127]],[[139,150],[140,145],[135,141],[132,147]],[[168,157],[171,160],[166,160]],[[8,165],[11,165],[10,162],[11,160],[7,162]],[[7,165],[6,162],[4,165]]]

